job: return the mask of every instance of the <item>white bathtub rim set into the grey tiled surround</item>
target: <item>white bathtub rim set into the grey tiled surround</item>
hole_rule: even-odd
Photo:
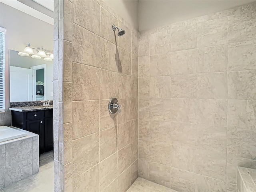
[[[27,134],[22,131],[7,126],[0,126],[0,142],[17,139],[25,136],[27,136]]]

